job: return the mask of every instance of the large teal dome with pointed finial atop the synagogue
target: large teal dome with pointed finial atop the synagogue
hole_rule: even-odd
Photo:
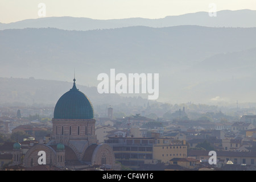
[[[94,111],[92,103],[84,93],[76,88],[74,78],[73,88],[64,93],[57,101],[53,118],[55,119],[92,119]]]

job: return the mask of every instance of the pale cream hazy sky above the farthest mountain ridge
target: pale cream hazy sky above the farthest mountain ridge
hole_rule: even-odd
[[[40,18],[39,3],[46,5],[46,17],[75,16],[93,19],[164,18],[197,11],[256,10],[256,0],[0,0],[0,22]]]

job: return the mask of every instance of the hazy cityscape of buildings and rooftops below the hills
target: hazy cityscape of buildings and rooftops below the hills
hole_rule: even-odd
[[[69,92],[80,92],[74,86]],[[109,106],[103,117],[90,119],[76,118],[68,110],[78,101],[69,102],[59,105],[59,113],[58,104],[40,109],[1,107],[1,170],[256,169],[256,115],[252,112],[241,115],[240,121],[181,118],[185,107],[171,120],[148,118],[144,112],[115,118]],[[51,156],[44,165],[36,164],[39,150]],[[217,154],[216,164],[209,163],[210,151]]]

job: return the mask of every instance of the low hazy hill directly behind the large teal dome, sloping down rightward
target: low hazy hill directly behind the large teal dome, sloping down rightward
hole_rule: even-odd
[[[73,83],[68,81],[42,80],[30,78],[0,77],[0,106],[51,106],[54,107],[59,98]],[[98,106],[126,105],[146,106],[147,100],[136,97],[121,97],[118,94],[99,94],[96,87],[76,84],[92,102],[96,110]],[[105,109],[105,107],[103,107]]]

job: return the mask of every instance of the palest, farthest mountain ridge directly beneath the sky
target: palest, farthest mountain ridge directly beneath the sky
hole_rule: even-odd
[[[171,27],[197,25],[206,27],[256,27],[256,10],[222,10],[216,17],[208,12],[189,13],[178,16],[166,16],[159,19],[126,18],[99,20],[75,18],[70,16],[26,19],[13,23],[0,23],[0,30],[12,28],[59,28],[62,30],[97,30],[131,26]]]

